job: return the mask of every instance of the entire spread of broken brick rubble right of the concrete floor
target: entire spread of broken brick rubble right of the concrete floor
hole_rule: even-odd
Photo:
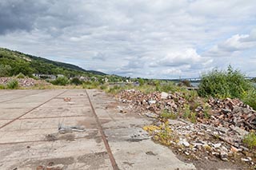
[[[118,97],[122,103],[128,104],[127,108],[154,118],[153,127],[144,128],[154,140],[161,142],[163,136],[168,136],[162,143],[177,148],[186,156],[194,159],[214,157],[241,160],[250,165],[255,162],[254,152],[246,148],[242,140],[256,129],[256,112],[238,99],[210,98],[205,101],[194,97],[191,100],[178,92],[145,94],[134,89],[123,90]],[[182,119],[187,108],[195,113],[197,123]],[[174,113],[176,119],[163,117],[162,110]],[[170,129],[170,134],[166,134],[166,129]]]

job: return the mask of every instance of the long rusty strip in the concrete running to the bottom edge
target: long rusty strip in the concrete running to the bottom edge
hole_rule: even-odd
[[[96,114],[96,112],[95,112],[95,109],[94,109],[94,105],[93,105],[92,102],[90,101],[90,97],[89,97],[89,94],[87,93],[87,91],[86,91],[86,96],[88,97],[88,100],[89,100],[89,102],[90,102],[90,107],[91,107],[91,109],[92,109],[92,111],[93,111],[93,113],[94,113],[94,117],[95,117],[95,120],[96,120],[96,123],[97,123],[98,130],[99,130],[99,132],[101,133],[102,140],[103,140],[103,142],[104,142],[104,144],[105,144],[106,152],[108,153],[108,156],[110,157],[110,162],[111,162],[111,164],[112,164],[112,168],[113,168],[114,170],[118,170],[118,169],[119,169],[119,168],[118,168],[118,164],[117,164],[116,161],[114,160],[114,156],[113,156],[113,153],[111,152],[110,144],[108,143],[108,141],[107,141],[107,139],[106,139],[106,135],[105,135],[105,133],[104,133],[104,131],[103,131],[102,124],[101,124],[101,122],[100,122],[99,119],[98,119],[98,116],[97,116],[97,114]]]

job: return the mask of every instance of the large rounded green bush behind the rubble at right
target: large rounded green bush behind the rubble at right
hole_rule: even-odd
[[[202,75],[198,94],[201,97],[241,98],[252,87],[250,81],[246,80],[242,73],[229,66],[227,71],[214,69]]]

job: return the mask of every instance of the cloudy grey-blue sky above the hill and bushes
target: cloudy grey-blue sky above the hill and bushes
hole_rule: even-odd
[[[256,77],[255,0],[1,0],[0,47],[126,77]]]

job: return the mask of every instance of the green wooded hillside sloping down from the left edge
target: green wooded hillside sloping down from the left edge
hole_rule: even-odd
[[[82,69],[77,65],[51,61],[43,57],[0,48],[0,77],[4,76],[4,74],[13,76],[18,73],[23,73],[26,76],[31,76],[33,73],[63,74],[67,77],[106,75],[106,73]]]

